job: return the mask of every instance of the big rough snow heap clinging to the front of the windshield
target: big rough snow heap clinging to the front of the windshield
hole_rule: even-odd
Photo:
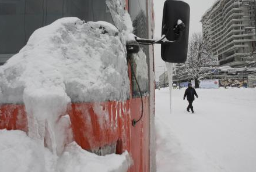
[[[45,94],[63,104],[70,99],[125,100],[129,95],[125,52],[111,24],[59,19],[36,30],[27,45],[1,67],[0,102],[23,103]]]

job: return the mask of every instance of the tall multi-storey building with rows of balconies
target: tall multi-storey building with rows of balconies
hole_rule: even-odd
[[[256,1],[219,0],[202,16],[203,38],[220,66],[244,67],[255,60]]]

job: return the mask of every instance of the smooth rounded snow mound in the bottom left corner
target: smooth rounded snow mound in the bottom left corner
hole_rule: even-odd
[[[0,171],[53,171],[54,156],[23,131],[0,130]]]

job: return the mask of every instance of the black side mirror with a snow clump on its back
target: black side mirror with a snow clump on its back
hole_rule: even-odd
[[[164,2],[162,35],[172,44],[162,44],[161,56],[165,62],[184,63],[187,60],[190,26],[190,6],[177,0]]]

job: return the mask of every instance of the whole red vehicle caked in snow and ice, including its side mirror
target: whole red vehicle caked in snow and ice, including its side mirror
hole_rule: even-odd
[[[62,157],[72,145],[99,156],[126,154],[129,171],[155,171],[153,44],[162,44],[164,61],[185,61],[188,4],[166,1],[159,40],[152,0],[0,6],[0,53],[15,54],[0,66],[0,132],[26,132],[56,156],[54,171],[68,170]]]

